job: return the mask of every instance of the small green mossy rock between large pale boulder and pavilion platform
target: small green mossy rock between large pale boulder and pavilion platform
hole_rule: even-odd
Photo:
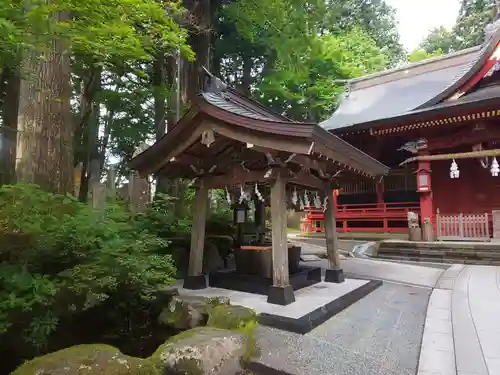
[[[208,311],[207,325],[222,329],[237,329],[245,323],[257,321],[252,309],[243,306],[218,304]]]

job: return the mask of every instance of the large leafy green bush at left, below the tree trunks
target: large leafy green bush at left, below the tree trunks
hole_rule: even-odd
[[[0,335],[21,332],[41,347],[61,318],[117,294],[153,298],[175,274],[158,255],[167,245],[118,204],[101,217],[72,196],[2,186]]]

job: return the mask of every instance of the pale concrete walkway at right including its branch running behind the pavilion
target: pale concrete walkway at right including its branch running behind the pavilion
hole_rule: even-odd
[[[306,251],[322,247],[319,239],[300,242]],[[343,244],[349,248],[353,243]],[[326,262],[307,263],[326,267]],[[356,258],[341,264],[351,277],[432,290],[417,375],[500,375],[500,267],[456,264],[443,270]]]

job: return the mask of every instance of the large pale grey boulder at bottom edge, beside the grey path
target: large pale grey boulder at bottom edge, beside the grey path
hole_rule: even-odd
[[[246,335],[199,327],[172,337],[153,354],[166,374],[234,375],[242,370]]]

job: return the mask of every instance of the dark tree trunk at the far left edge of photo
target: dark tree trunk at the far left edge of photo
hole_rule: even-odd
[[[2,131],[0,143],[0,184],[15,182],[17,111],[19,109],[19,72],[11,68],[2,71]]]

